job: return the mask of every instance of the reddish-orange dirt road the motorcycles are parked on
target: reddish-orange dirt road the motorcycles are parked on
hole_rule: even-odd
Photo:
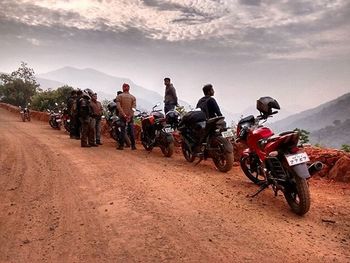
[[[350,187],[310,188],[298,217],[270,190],[247,197],[239,167],[80,148],[0,109],[0,262],[350,262]]]

